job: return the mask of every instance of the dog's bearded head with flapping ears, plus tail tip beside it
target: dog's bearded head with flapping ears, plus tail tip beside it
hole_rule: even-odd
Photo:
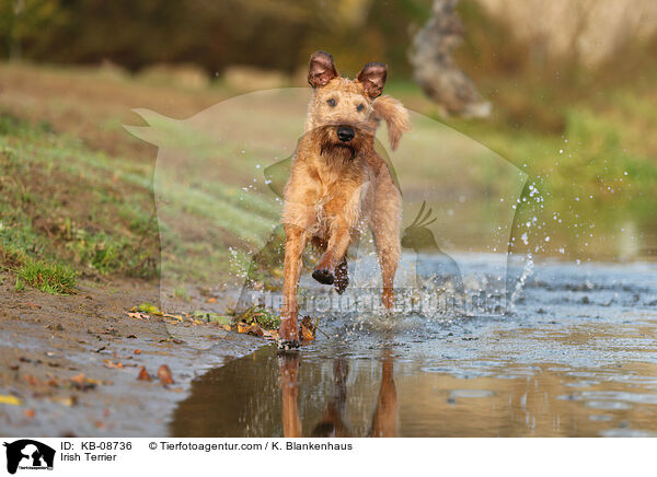
[[[310,57],[308,82],[314,89],[306,130],[320,135],[322,151],[332,150],[348,159],[371,146],[381,119],[388,124],[392,149],[410,129],[408,113],[400,102],[382,96],[388,67],[369,62],[355,80],[339,75],[333,56],[315,51]]]

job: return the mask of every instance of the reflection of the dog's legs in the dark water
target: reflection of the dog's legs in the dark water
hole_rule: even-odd
[[[379,399],[372,416],[369,437],[395,438],[397,435],[397,396],[394,386],[393,360],[389,352],[382,359],[382,379],[379,388]],[[278,358],[280,371],[280,386],[283,393],[283,433],[286,438],[301,438],[301,418],[297,397],[299,383],[298,354],[281,354]],[[345,407],[347,402],[347,377],[349,364],[344,359],[336,359],[333,363],[334,393],[326,404],[320,422],[311,432],[312,438],[353,438],[354,434],[348,422],[345,422]]]

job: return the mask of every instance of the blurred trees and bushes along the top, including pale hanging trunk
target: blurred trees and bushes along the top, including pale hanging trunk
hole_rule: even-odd
[[[492,80],[565,97],[634,75],[657,53],[656,19],[654,0],[0,0],[0,58],[186,67],[197,84],[269,80],[257,89],[304,84],[309,54],[325,49],[343,74],[385,61],[392,81],[414,80],[441,115],[487,116],[486,100],[505,94]],[[500,100],[506,119],[563,128],[544,109]]]

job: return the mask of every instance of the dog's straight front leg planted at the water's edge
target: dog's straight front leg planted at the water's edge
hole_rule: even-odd
[[[293,224],[285,225],[285,265],[283,269],[283,311],[280,314],[280,328],[278,337],[289,345],[299,345],[299,304],[297,302],[297,288],[301,271],[301,255],[306,248],[308,233]]]

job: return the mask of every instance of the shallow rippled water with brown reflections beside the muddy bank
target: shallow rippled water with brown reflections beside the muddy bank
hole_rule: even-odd
[[[657,267],[535,266],[514,313],[332,315],[193,382],[172,435],[657,437]]]

